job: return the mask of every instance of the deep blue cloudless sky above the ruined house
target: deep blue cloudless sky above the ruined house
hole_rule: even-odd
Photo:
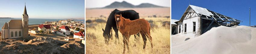
[[[251,26],[256,25],[256,0],[172,0],[172,19],[180,19],[190,5],[207,8],[214,12],[241,20],[239,25],[249,26],[249,7],[251,7]]]

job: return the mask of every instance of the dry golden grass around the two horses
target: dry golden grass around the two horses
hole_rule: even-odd
[[[90,18],[86,18],[88,20]],[[129,54],[169,54],[170,53],[170,29],[162,26],[162,22],[170,21],[170,18],[145,18],[146,20],[153,20],[153,23],[158,26],[158,28],[151,28],[151,37],[153,39],[153,48],[149,40],[147,40],[146,49],[143,49],[143,40],[140,37],[140,43],[137,46],[134,46],[134,36],[131,35],[129,41]],[[92,19],[93,20],[93,19]],[[96,22],[92,22],[96,23]],[[88,23],[87,23],[88,24]],[[86,38],[86,53],[88,54],[122,54],[123,52],[123,37],[119,32],[119,42],[120,44],[115,44],[115,37],[113,40],[109,41],[109,45],[105,44],[103,31],[106,26],[106,23],[96,23],[97,25],[94,28],[86,28],[87,34],[94,34],[96,38],[88,39]],[[113,34],[115,32],[113,31]],[[88,36],[88,35],[86,35]],[[90,36],[91,37],[91,36]],[[127,49],[126,49],[126,52]]]

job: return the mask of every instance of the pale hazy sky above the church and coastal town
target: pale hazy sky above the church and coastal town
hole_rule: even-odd
[[[84,18],[84,0],[0,0],[0,17],[21,18],[26,2],[29,18]]]

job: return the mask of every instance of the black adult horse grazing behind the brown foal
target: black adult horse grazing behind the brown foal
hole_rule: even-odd
[[[123,10],[123,11],[120,11],[120,10],[115,9],[114,11],[112,11],[110,13],[110,15],[109,15],[108,20],[107,20],[105,30],[102,29],[103,30],[103,36],[105,38],[105,43],[106,44],[108,44],[110,38],[112,38],[112,34],[110,35],[110,31],[112,30],[111,28],[113,28],[113,30],[115,31],[115,38],[117,38],[119,40],[118,29],[116,28],[116,22],[115,22],[115,16],[114,16],[115,14],[122,14],[122,16],[124,18],[130,19],[130,20],[135,20],[135,19],[139,19],[140,18],[139,13],[137,13],[134,10]],[[139,33],[137,34],[137,36],[138,37],[136,38],[136,36],[134,35],[135,41],[139,40],[139,38],[140,38]]]

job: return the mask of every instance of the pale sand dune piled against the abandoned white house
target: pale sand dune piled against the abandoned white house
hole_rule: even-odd
[[[172,54],[254,54],[256,28],[219,26],[201,36],[184,41],[187,36],[172,36]]]

